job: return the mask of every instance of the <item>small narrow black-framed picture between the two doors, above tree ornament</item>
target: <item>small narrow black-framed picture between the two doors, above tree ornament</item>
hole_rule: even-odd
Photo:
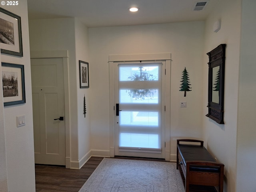
[[[80,88],[89,88],[89,63],[79,60]]]

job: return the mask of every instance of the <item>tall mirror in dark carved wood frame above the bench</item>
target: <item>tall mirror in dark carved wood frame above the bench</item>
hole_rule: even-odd
[[[206,114],[206,116],[216,121],[218,124],[224,124],[225,49],[226,44],[220,44],[214,50],[207,53],[209,56],[209,72],[208,114]],[[215,74],[213,74],[213,72]]]

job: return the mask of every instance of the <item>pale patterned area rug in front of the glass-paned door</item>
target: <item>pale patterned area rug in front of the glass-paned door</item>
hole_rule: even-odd
[[[104,158],[79,192],[184,192],[176,163]]]

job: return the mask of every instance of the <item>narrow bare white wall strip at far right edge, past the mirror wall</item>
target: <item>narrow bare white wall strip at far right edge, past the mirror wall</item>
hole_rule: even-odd
[[[256,190],[256,1],[242,1],[236,191]]]

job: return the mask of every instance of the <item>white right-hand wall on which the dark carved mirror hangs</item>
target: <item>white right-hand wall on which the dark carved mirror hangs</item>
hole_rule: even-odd
[[[203,70],[203,115],[208,113],[208,64],[207,52],[220,44],[226,46],[224,85],[224,125],[204,116],[204,141],[218,162],[225,165],[224,191],[236,192],[236,132],[238,112],[238,74],[240,54],[241,0],[220,1],[206,20],[204,70]],[[221,19],[221,28],[213,32],[213,24]],[[243,191],[243,190],[241,190]],[[240,192],[240,191],[237,191]]]

